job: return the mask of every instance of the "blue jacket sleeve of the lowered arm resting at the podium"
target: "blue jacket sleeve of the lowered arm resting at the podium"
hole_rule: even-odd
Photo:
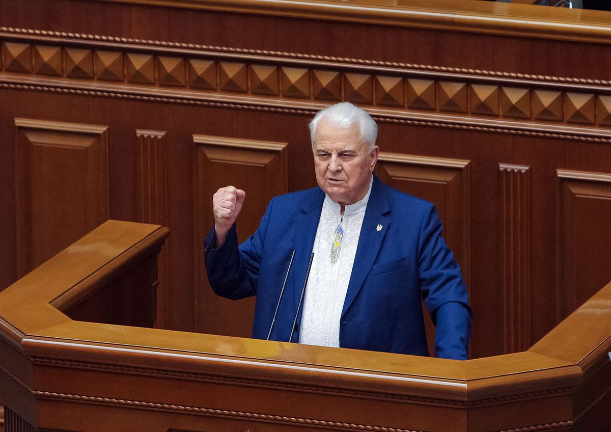
[[[420,229],[420,289],[436,325],[436,357],[466,360],[472,324],[469,295],[460,267],[445,244],[441,230],[439,214],[430,205]]]

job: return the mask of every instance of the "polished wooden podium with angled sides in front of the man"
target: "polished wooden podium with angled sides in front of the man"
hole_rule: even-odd
[[[168,232],[105,222],[0,293],[7,432],[609,428],[611,284],[530,350],[464,362],[167,331]]]

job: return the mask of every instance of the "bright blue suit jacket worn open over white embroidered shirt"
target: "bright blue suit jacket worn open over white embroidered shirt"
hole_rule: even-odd
[[[218,295],[257,295],[252,337],[266,339],[291,253],[295,260],[271,339],[288,341],[324,200],[320,188],[277,196],[261,223],[238,248],[235,225],[213,249],[205,240],[208,280]],[[377,230],[382,225],[381,230]],[[471,312],[460,268],[441,237],[430,202],[373,178],[353,272],[340,321],[340,346],[428,355],[424,299],[436,323],[437,357],[466,359]],[[299,338],[299,323],[293,341]]]

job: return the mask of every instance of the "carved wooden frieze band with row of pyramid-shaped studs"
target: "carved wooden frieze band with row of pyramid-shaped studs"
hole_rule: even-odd
[[[420,123],[431,127],[448,127],[456,119],[477,131],[611,139],[611,83],[603,80],[8,27],[0,27],[0,45],[4,88],[32,89],[29,82],[35,82],[34,90],[60,87],[51,91],[122,98],[145,92],[152,101],[203,98],[228,107],[239,96],[250,109],[301,104],[308,112],[349,100],[380,118],[437,115]],[[111,83],[112,90],[105,88]],[[475,126],[481,121],[490,125]],[[542,129],[550,131],[536,134]]]

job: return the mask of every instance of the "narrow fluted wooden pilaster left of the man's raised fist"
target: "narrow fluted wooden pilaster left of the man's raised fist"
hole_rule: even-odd
[[[138,149],[138,222],[167,226],[167,141],[166,132],[136,130]],[[157,321],[155,326],[169,325],[170,299],[167,285],[169,240],[158,257]]]

